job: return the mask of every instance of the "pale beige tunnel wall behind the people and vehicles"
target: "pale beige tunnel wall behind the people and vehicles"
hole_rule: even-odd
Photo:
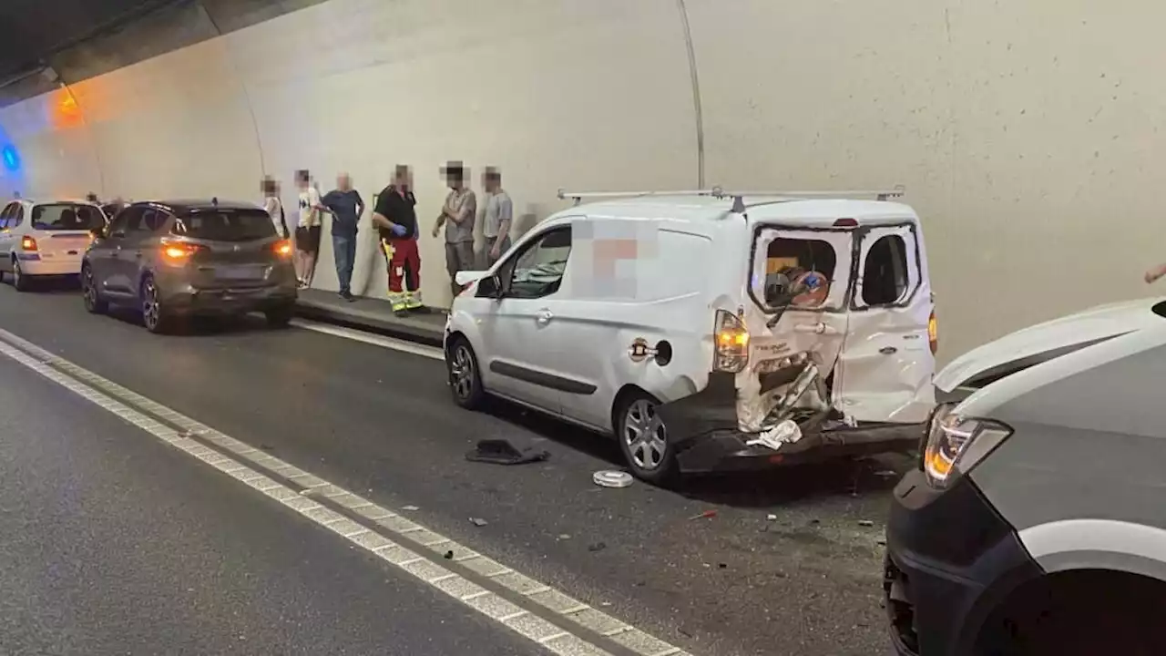
[[[1166,259],[1147,193],[1164,18],[1086,0],[329,0],[0,110],[22,160],[0,194],[258,200],[266,173],[294,207],[309,168],[324,190],[351,172],[371,201],[403,162],[428,228],[437,167],[463,159],[475,187],[503,168],[526,229],[559,187],[693,188],[702,163],[709,186],[905,184],[949,358],[1145,294]],[[354,287],[381,294],[364,232]],[[323,251],[316,286],[335,289]],[[447,303],[438,239],[422,261]]]

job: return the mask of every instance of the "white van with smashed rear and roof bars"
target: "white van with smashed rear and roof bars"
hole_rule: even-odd
[[[458,274],[454,400],[613,433],[652,482],[914,448],[935,323],[899,194],[561,193],[576,207]]]

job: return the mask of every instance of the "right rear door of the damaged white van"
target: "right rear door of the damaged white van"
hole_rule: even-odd
[[[858,421],[925,421],[935,400],[935,356],[919,225],[865,228],[856,238],[858,279],[838,362],[840,409]]]

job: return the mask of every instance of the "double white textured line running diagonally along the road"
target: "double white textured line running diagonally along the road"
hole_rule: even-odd
[[[562,629],[564,627],[543,620],[538,615],[532,615],[521,624],[511,623],[511,620],[521,617],[528,614],[528,612],[508,601],[506,598],[473,582],[471,579],[456,572],[450,572],[429,558],[419,556],[416,552],[401,546],[401,544],[388,539],[382,533],[354,531],[353,526],[359,526],[359,524],[347,521],[346,517],[317,503],[310,496],[304,496],[300,491],[274,479],[280,479],[304,490],[310,489],[308,488],[308,484],[310,484],[311,488],[328,488],[329,493],[337,496],[351,496],[353,497],[351,500],[353,505],[359,507],[354,512],[360,517],[374,522],[381,530],[395,535],[402,542],[412,542],[417,547],[430,553],[444,554],[448,551],[455,552],[458,556],[454,558],[454,561],[470,570],[473,577],[484,581],[490,580],[493,585],[503,586],[515,599],[525,598],[538,603],[554,613],[564,623],[573,623],[599,635],[617,636],[618,640],[616,642],[620,645],[644,656],[660,652],[690,656],[688,652],[680,650],[680,648],[596,610],[550,586],[518,573],[452,539],[445,538],[415,522],[402,519],[398,514],[384,507],[377,505],[359,495],[344,490],[339,486],[329,483],[323,479],[216,431],[205,424],[201,424],[175,410],[153,402],[3,329],[0,329],[0,354],[15,360],[50,381],[134,424],[160,440],[171,444],[211,467],[245,482],[250,487],[257,490],[266,490],[264,494],[296,510],[316,524],[347,538],[350,542],[366,549],[387,563],[409,572],[409,574],[426,581],[428,585],[454,596],[462,603],[504,623],[524,637],[539,642],[554,654],[562,656],[575,656],[578,654],[610,656],[609,651],[603,650],[576,634],[567,633],[564,636],[559,636],[560,633],[563,633]],[[125,404],[117,400],[119,398]],[[132,406],[136,406],[138,410]],[[139,412],[139,410],[148,412],[153,417],[163,418],[180,430],[161,424],[150,416]],[[201,439],[231,452],[234,456],[266,469],[271,473],[271,476],[208,448],[203,444],[190,439],[190,435],[198,435]],[[328,498],[326,495],[319,494],[319,490],[314,490],[314,493],[312,496]],[[329,501],[335,502],[336,500],[329,498]],[[382,542],[371,542],[370,538],[379,538]],[[426,544],[430,546],[427,547]],[[416,565],[422,566],[415,567]],[[443,574],[456,575],[443,578]],[[435,577],[441,578],[441,580],[431,582],[429,579]],[[533,592],[531,592],[532,588],[534,588]],[[554,594],[543,595],[547,592],[553,592]],[[506,620],[504,621],[503,617],[506,617]],[[569,640],[561,640],[561,637],[568,637]],[[540,642],[541,640],[554,642],[554,644]],[[669,651],[673,649],[675,651]]]

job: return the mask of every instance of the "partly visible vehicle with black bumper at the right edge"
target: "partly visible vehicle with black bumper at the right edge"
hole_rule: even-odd
[[[884,578],[901,656],[1166,650],[1166,301],[975,349],[894,490]]]

